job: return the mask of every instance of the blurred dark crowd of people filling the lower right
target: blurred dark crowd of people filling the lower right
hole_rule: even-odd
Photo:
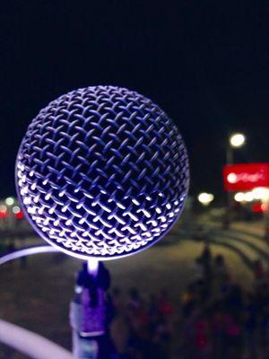
[[[110,331],[119,357],[268,359],[269,281],[263,264],[253,264],[249,292],[232,282],[225,258],[213,258],[208,245],[194,267],[178,302],[169,299],[169,289],[145,300],[136,288],[114,288]]]

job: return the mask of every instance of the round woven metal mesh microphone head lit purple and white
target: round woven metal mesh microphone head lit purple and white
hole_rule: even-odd
[[[177,222],[187,150],[154,102],[91,86],[40,110],[22,139],[15,179],[44,240],[77,258],[119,258],[148,248]]]

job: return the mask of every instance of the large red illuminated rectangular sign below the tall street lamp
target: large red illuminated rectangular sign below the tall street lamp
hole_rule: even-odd
[[[229,164],[223,169],[227,191],[245,191],[269,187],[269,163]]]

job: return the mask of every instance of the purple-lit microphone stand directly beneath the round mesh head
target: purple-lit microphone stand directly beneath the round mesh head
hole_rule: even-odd
[[[109,312],[106,292],[109,285],[108,269],[102,262],[91,259],[83,263],[70,304],[75,359],[116,359],[108,334],[111,309]]]

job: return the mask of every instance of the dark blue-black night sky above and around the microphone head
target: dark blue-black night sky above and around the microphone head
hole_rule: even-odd
[[[268,3],[267,3],[268,4]],[[0,196],[30,120],[78,87],[117,84],[156,101],[187,142],[192,192],[221,197],[230,132],[237,162],[269,160],[265,1],[5,2],[1,27]]]

